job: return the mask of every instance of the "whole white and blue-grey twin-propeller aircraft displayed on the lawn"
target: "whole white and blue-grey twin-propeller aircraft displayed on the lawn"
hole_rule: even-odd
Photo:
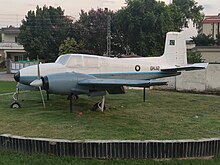
[[[182,70],[205,69],[208,63],[187,65],[186,43],[183,35],[168,32],[164,54],[160,57],[110,58],[85,54],[65,54],[55,63],[45,63],[21,69],[14,78],[17,89],[41,88],[47,93],[105,96],[124,93],[124,86],[150,87],[167,82],[153,80],[180,75]],[[17,93],[16,93],[17,94]],[[104,108],[104,99],[96,107]],[[43,98],[42,98],[43,100]],[[44,100],[43,100],[44,103]],[[12,108],[20,107],[14,97]]]

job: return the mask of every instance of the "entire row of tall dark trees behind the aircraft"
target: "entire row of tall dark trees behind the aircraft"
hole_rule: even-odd
[[[199,24],[202,6],[194,0],[173,0],[172,4],[156,0],[126,0],[117,12],[106,9],[81,11],[72,23],[58,7],[29,11],[22,21],[19,42],[31,58],[54,60],[64,40],[73,38],[81,53],[106,53],[107,20],[111,16],[111,41],[114,54],[128,52],[141,56],[161,55],[168,31],[181,31],[191,20]]]

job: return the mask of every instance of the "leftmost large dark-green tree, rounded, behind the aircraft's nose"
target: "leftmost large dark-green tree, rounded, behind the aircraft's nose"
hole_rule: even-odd
[[[28,56],[53,61],[57,58],[60,44],[71,36],[72,21],[64,16],[60,8],[37,6],[36,12],[29,11],[22,20],[18,41]]]

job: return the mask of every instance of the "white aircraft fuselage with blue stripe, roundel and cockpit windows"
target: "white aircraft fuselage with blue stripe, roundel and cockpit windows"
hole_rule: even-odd
[[[164,72],[163,56],[148,58],[110,58],[94,55],[62,55],[55,63],[40,64],[40,75],[76,72],[97,78],[150,80],[176,76],[179,72]],[[37,65],[20,70],[20,83],[29,85],[38,78]]]

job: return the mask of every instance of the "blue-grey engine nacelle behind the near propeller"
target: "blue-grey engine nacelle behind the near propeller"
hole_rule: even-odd
[[[91,78],[95,77],[75,72],[50,74],[42,78],[43,89],[55,94],[87,94],[89,90],[79,86],[78,81]]]

